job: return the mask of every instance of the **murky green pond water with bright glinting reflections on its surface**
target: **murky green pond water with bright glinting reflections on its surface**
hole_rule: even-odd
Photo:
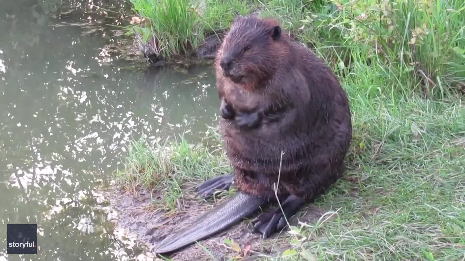
[[[34,3],[0,1],[0,261],[135,260],[140,248],[117,239],[92,191],[130,139],[198,141],[216,124],[213,70],[148,70],[110,26],[125,15],[91,8],[127,2]],[[38,254],[6,254],[8,223],[38,224]]]

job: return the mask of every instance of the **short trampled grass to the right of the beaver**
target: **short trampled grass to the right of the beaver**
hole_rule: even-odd
[[[352,182],[339,181],[315,202],[337,214],[301,224],[286,239],[294,246],[288,253],[318,260],[463,260],[464,104],[368,99],[347,89],[354,111],[346,173]]]

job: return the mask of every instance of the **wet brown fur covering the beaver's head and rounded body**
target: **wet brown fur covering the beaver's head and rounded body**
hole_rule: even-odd
[[[219,98],[262,113],[257,128],[221,119],[221,133],[239,190],[273,198],[283,151],[278,194],[312,200],[345,171],[351,112],[331,68],[284,32],[273,39],[275,26],[273,19],[238,17],[220,46]],[[244,76],[240,82],[225,76],[219,65],[225,55],[233,57],[230,75]]]

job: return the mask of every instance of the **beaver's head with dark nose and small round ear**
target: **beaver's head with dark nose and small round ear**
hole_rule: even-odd
[[[288,54],[277,20],[236,18],[216,56],[216,69],[235,84],[256,85],[276,71]]]

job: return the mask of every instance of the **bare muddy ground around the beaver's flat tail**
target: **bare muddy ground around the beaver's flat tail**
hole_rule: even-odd
[[[115,223],[115,228],[125,231],[126,237],[131,237],[135,241],[142,242],[148,248],[145,253],[148,260],[155,258],[153,249],[162,241],[168,234],[178,231],[179,228],[189,226],[195,219],[213,208],[220,202],[227,200],[223,198],[216,203],[207,203],[200,199],[194,192],[185,193],[182,211],[175,214],[166,215],[163,210],[153,210],[151,206],[150,193],[143,190],[138,191],[138,195],[124,193],[117,187],[101,192],[106,201],[110,204],[107,207],[108,213],[112,217],[110,221]],[[186,198],[188,196],[188,198]],[[264,211],[269,210],[265,208]],[[324,209],[307,205],[300,213],[303,215],[295,215],[289,219],[291,225],[296,225],[298,219],[301,222],[316,222],[321,215],[324,214]],[[248,219],[243,219],[226,230],[211,236],[210,238],[200,241],[200,243],[211,253],[207,253],[199,244],[191,244],[178,252],[166,255],[166,257],[176,261],[191,261],[191,260],[227,260],[229,257],[242,256],[242,260],[255,260],[258,257],[256,253],[276,255],[276,250],[282,252],[289,245],[284,240],[279,240],[284,235],[283,232],[276,233],[266,240],[261,239],[259,233],[254,233],[252,230],[252,220],[259,212],[251,215]],[[299,216],[299,218],[297,218]],[[227,248],[224,244],[225,238],[234,240],[241,248],[240,252]],[[278,240],[277,240],[278,239]],[[246,251],[244,249],[250,249]],[[244,256],[246,254],[246,256]],[[214,256],[214,259],[212,257]],[[156,258],[155,258],[156,259]],[[143,260],[138,258],[138,260]],[[163,260],[163,259],[159,259]]]

